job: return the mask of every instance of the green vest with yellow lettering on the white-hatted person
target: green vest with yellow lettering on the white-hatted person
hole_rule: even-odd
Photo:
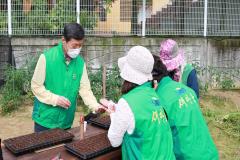
[[[174,160],[171,129],[162,103],[151,87],[145,83],[123,97],[135,119],[135,130],[123,138],[123,160]]]

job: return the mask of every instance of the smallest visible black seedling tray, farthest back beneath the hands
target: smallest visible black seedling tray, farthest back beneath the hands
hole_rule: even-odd
[[[110,116],[108,115],[101,115],[98,116],[97,118],[91,118],[90,120],[88,120],[88,122],[103,129],[109,129],[111,119]]]

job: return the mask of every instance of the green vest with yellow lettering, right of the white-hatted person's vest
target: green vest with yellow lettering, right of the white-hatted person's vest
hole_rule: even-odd
[[[157,89],[171,126],[174,153],[178,160],[218,160],[218,152],[193,90],[163,78]]]

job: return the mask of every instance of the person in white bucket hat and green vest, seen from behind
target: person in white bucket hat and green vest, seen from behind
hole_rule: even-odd
[[[108,138],[113,147],[122,144],[123,160],[174,160],[171,129],[163,110],[164,103],[152,88],[153,57],[142,46],[131,48],[118,60],[124,79],[122,98],[108,106],[111,126]]]

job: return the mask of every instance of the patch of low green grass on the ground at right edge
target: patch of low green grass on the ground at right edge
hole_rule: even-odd
[[[220,129],[228,138],[240,140],[240,112],[235,103],[225,96],[209,93],[200,103],[208,124]]]

